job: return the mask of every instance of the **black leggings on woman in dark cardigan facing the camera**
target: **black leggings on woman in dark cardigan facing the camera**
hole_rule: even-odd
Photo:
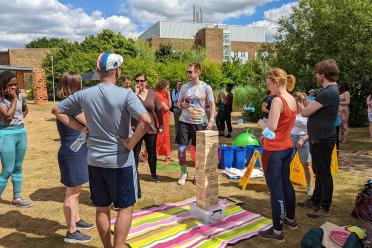
[[[146,150],[148,154],[148,163],[150,166],[151,175],[156,175],[156,136],[157,134],[145,134],[137,145],[134,147],[134,160],[136,162],[136,167],[138,168],[139,154],[141,152],[142,141],[145,140]]]

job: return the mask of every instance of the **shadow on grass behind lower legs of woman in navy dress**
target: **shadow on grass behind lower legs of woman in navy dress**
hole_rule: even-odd
[[[66,188],[63,186],[54,187],[54,188],[41,188],[37,189],[34,193],[30,195],[31,200],[33,201],[55,201],[63,203],[65,199]],[[89,199],[89,191],[84,188],[81,189],[79,203],[92,206]]]

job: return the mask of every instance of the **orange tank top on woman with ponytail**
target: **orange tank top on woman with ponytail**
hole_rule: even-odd
[[[283,111],[280,113],[278,126],[275,130],[275,139],[264,138],[263,147],[267,151],[282,151],[293,147],[291,130],[296,120],[296,111],[289,108],[287,101],[282,97]]]

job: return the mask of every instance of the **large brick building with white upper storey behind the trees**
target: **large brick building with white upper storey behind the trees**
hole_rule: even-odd
[[[158,49],[169,44],[174,49],[188,50],[201,46],[210,60],[222,63],[238,58],[243,63],[256,58],[265,43],[263,27],[159,21],[143,32],[139,39],[148,40]]]

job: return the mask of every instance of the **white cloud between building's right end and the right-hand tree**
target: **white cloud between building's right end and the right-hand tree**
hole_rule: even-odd
[[[292,7],[297,6],[298,3],[283,4],[279,8],[269,9],[264,12],[265,19],[249,24],[248,26],[265,27],[266,41],[274,41],[274,35],[278,28],[278,21],[282,16],[292,13]]]

